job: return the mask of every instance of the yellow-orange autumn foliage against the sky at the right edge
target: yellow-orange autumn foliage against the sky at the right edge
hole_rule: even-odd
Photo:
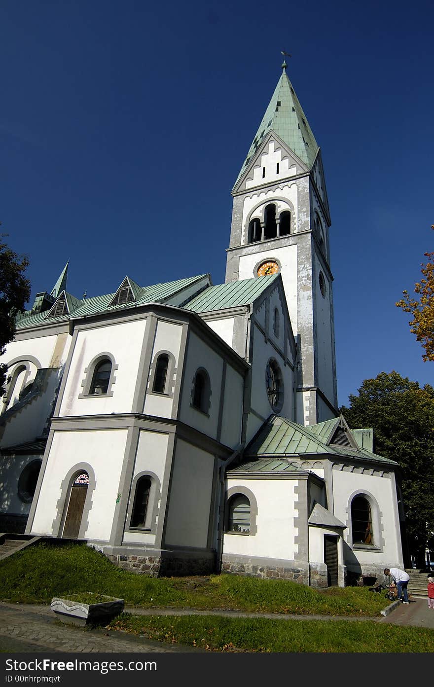
[[[434,229],[434,225],[431,227]],[[422,262],[423,278],[415,284],[414,291],[418,298],[410,297],[403,291],[404,297],[396,303],[405,313],[411,313],[410,331],[422,343],[425,349],[424,361],[434,360],[434,253],[425,253],[428,262]]]

